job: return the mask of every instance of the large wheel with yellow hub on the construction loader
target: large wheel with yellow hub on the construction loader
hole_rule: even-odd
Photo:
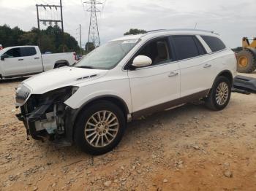
[[[236,55],[237,71],[241,73],[252,73],[256,69],[256,56],[250,50],[241,50]]]

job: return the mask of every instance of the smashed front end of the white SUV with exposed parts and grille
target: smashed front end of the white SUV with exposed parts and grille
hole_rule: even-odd
[[[64,101],[77,90],[78,87],[68,86],[38,95],[31,94],[25,85],[18,87],[15,101],[21,113],[16,116],[23,121],[28,138],[43,141],[44,137],[49,137],[58,144],[72,144],[75,109]]]

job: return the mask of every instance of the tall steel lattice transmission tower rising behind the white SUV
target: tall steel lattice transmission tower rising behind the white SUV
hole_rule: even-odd
[[[100,12],[100,10],[97,8],[97,5],[102,3],[97,0],[90,0],[84,3],[90,5],[90,8],[87,9],[86,11],[91,12],[88,42],[86,45],[86,50],[88,50],[89,43],[93,43],[94,47],[99,47],[100,45],[99,28],[98,28],[98,22],[97,22],[97,12]]]

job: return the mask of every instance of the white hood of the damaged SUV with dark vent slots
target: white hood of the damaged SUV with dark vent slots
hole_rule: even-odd
[[[42,94],[60,87],[76,85],[80,82],[103,77],[107,72],[107,70],[81,69],[66,66],[37,74],[24,80],[23,83],[30,87],[31,94]]]

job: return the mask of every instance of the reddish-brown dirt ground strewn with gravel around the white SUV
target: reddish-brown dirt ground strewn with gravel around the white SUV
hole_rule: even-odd
[[[256,94],[233,93],[222,112],[187,104],[136,120],[92,157],[26,140],[20,81],[0,82],[0,190],[256,190]]]

